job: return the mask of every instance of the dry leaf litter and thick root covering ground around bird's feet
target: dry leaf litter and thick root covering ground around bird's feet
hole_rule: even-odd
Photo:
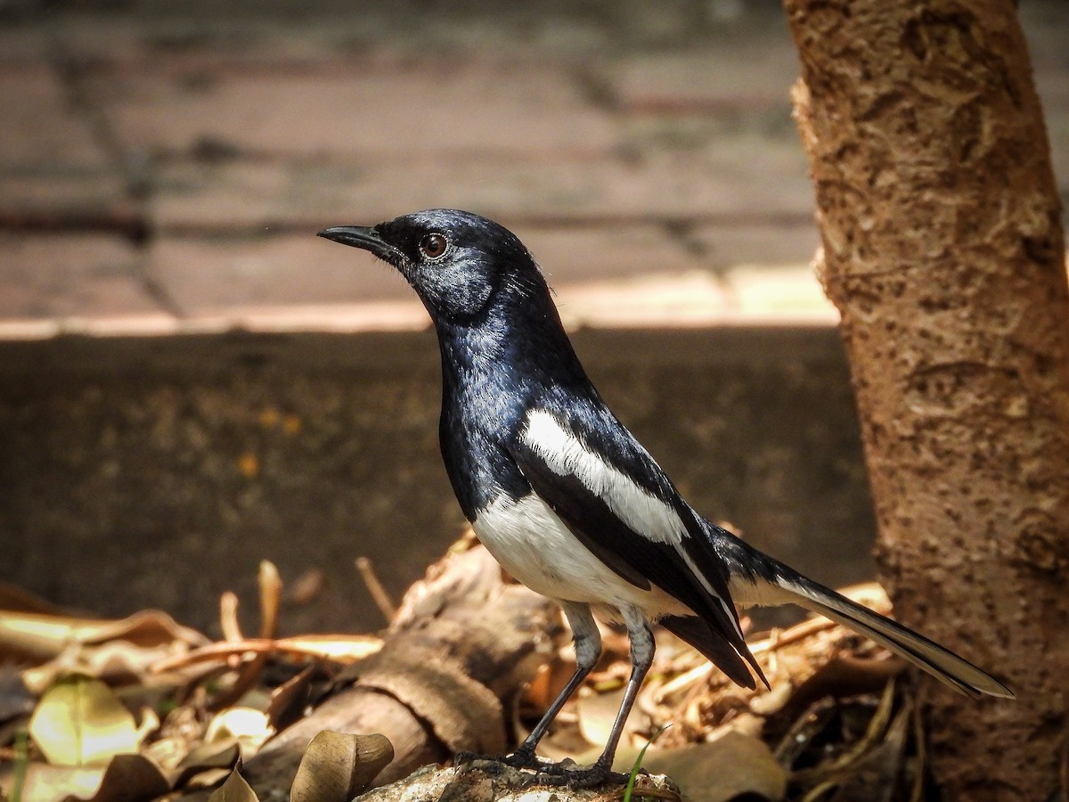
[[[560,617],[470,539],[405,595],[385,633],[278,637],[281,579],[265,564],[260,581],[257,637],[224,598],[218,643],[158,612],[98,621],[15,591],[9,611],[0,593],[0,657],[20,662],[0,684],[0,798],[348,802],[370,784],[368,802],[624,799],[620,786],[539,788],[493,760],[448,765],[458,750],[503,749],[499,730],[521,738],[574,669]],[[847,593],[889,612],[877,585]],[[487,610],[497,624],[465,624]],[[606,656],[544,740],[546,758],[584,765],[604,744],[630,666],[626,639],[603,634]],[[923,799],[900,660],[810,619],[749,638],[771,688],[748,691],[670,634],[657,642],[614,767],[631,772],[646,749],[653,773],[636,775],[636,802]]]

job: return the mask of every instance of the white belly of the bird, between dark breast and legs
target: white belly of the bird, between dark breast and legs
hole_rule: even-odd
[[[551,599],[637,606],[651,619],[694,615],[660,588],[642,590],[608,568],[534,493],[515,502],[502,496],[471,526],[505,570]]]

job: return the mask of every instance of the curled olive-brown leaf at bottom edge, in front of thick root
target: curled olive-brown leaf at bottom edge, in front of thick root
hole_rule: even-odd
[[[323,730],[312,738],[290,789],[292,802],[348,802],[393,759],[381,735]]]

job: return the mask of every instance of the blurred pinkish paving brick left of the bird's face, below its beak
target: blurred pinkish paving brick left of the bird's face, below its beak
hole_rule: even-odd
[[[412,298],[394,271],[313,231],[222,241],[166,236],[152,244],[148,272],[186,319],[218,314],[231,306]]]

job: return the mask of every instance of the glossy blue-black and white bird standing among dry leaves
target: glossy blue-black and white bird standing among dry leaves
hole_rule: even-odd
[[[371,251],[419,295],[441,351],[439,438],[476,535],[520,582],[560,603],[577,668],[506,760],[570,785],[611,776],[628,713],[653,660],[651,624],[693,645],[728,677],[768,684],[735,604],[795,603],[866,635],[965,694],[1013,694],[972,663],[757,551],[698,514],[609,411],[564,333],[527,248],[467,212],[430,210],[320,236]],[[594,667],[594,615],[622,621],[631,678],[605,751],[587,769],[534,756]]]

